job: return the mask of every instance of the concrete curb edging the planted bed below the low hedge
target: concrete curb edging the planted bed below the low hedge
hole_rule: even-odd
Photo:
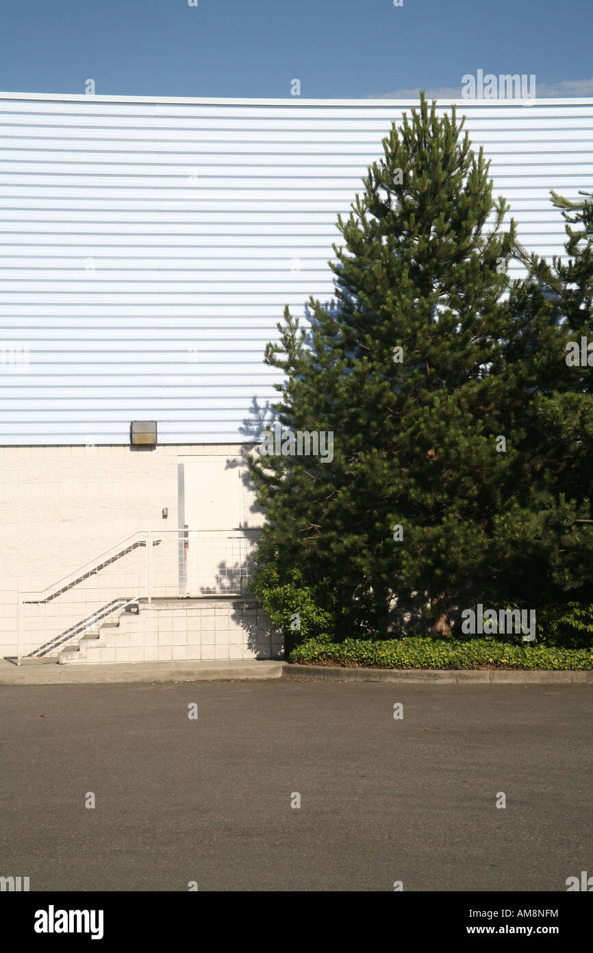
[[[283,663],[284,679],[307,681],[397,681],[440,685],[593,685],[593,670],[339,668]]]

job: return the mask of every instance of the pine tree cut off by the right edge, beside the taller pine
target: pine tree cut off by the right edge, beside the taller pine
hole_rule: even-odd
[[[580,357],[582,337],[593,339],[593,202],[554,192],[552,200],[565,221],[565,254],[547,263],[518,246],[527,275],[511,292],[495,374],[499,406],[522,436],[513,493],[497,520],[492,584],[509,599],[540,606],[567,593],[593,601],[593,375],[569,361],[575,348]]]

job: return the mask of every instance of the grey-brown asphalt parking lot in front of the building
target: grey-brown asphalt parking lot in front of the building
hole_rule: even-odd
[[[565,891],[593,872],[592,714],[580,685],[2,686],[0,875]]]

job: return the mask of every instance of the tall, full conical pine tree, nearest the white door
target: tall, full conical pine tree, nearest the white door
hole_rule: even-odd
[[[331,578],[353,627],[385,628],[393,593],[416,592],[448,634],[450,594],[490,572],[515,434],[488,369],[504,364],[516,234],[463,125],[424,94],[393,124],[338,218],[337,307],[311,298],[308,333],[286,310],[267,345],[279,421],[333,432],[334,450],[253,458],[262,558]]]

